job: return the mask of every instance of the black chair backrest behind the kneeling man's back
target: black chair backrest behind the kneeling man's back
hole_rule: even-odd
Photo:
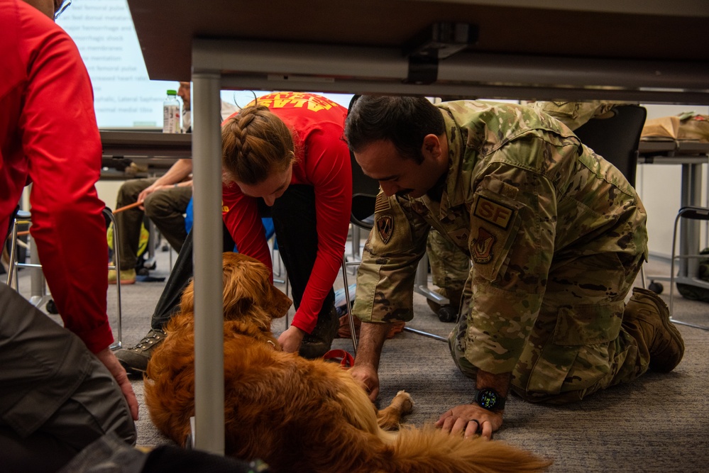
[[[635,186],[638,143],[647,111],[638,105],[619,105],[610,118],[591,118],[578,127],[576,136],[623,173]]]

